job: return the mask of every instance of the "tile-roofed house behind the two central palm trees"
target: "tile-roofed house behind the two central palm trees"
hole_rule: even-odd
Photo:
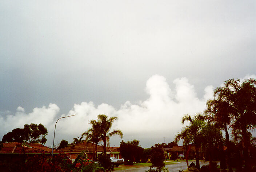
[[[93,152],[95,152],[95,144],[89,142],[88,144],[86,142],[74,144],[72,146],[64,147],[61,149],[58,149],[59,151],[63,151],[67,154],[69,154],[70,158],[74,161],[81,152],[86,150],[87,158],[93,159]],[[109,157],[115,157],[117,159],[121,159],[120,151],[112,148],[107,147],[106,149],[107,156]],[[97,145],[97,155],[103,153],[103,146]]]

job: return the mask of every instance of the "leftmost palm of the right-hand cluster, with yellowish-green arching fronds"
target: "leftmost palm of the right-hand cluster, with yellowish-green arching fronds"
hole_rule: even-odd
[[[183,144],[188,146],[189,144],[195,144],[196,149],[196,168],[200,169],[199,164],[199,147],[201,144],[201,130],[204,125],[205,117],[201,113],[197,113],[193,118],[190,115],[185,114],[181,119],[181,123],[184,124],[185,121],[190,122],[189,126],[183,127],[180,133],[175,136],[175,142],[179,142],[183,139]],[[187,161],[187,157],[186,157]],[[187,161],[188,165],[188,161]]]

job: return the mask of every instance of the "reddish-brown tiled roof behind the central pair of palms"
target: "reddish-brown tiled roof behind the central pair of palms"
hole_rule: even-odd
[[[86,150],[86,152],[94,152],[95,151],[95,144],[94,143],[78,143],[78,144],[74,144],[72,146],[68,146],[68,147],[64,147],[61,149],[58,149],[59,151],[63,151],[63,152],[81,152]],[[97,152],[103,152],[103,146],[98,145],[97,146]],[[120,152],[119,150],[116,150],[112,147],[107,147],[106,152]]]

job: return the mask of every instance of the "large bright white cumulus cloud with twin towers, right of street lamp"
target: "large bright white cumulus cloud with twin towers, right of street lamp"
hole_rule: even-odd
[[[213,92],[213,86],[207,86],[204,97],[200,99],[187,78],[175,79],[173,84],[175,89],[172,91],[165,77],[153,75],[148,79],[145,88],[149,98],[140,101],[139,104],[127,101],[120,109],[108,104],[96,107],[93,102],[75,104],[73,109],[63,116],[72,114],[76,116],[61,120],[58,123],[58,133],[79,136],[87,130],[88,120],[97,118],[99,114],[106,114],[119,117],[113,124],[113,129],[118,128],[123,131],[124,140],[139,139],[141,145],[145,147],[163,142],[163,137],[169,138],[168,142],[171,142],[182,128],[181,117],[187,113],[193,115],[202,112],[205,102],[212,97]],[[148,140],[143,142],[146,138]],[[120,138],[112,139],[112,145],[118,145],[120,140]]]

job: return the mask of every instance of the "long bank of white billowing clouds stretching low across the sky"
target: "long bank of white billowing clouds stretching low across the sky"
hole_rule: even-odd
[[[254,77],[247,75],[245,78]],[[205,103],[213,95],[213,86],[204,89],[204,96],[197,97],[195,88],[186,77],[173,80],[172,90],[165,77],[153,75],[147,80],[145,91],[147,100],[132,104],[126,101],[119,109],[109,104],[102,103],[95,106],[93,102],[74,104],[67,113],[58,115],[60,108],[50,103],[48,107],[34,108],[31,113],[18,107],[15,114],[11,112],[0,113],[1,137],[16,127],[23,127],[25,123],[42,123],[48,129],[47,145],[51,146],[55,122],[58,118],[76,114],[74,117],[60,119],[56,127],[56,143],[61,139],[72,142],[72,138],[80,136],[87,130],[88,120],[96,119],[99,114],[117,116],[118,121],[113,123],[113,128],[120,129],[124,140],[140,140],[140,145],[150,147],[155,143],[169,143],[182,128],[181,117],[184,114],[203,112]],[[90,125],[89,125],[90,127]],[[111,146],[118,146],[121,138],[113,137]]]

